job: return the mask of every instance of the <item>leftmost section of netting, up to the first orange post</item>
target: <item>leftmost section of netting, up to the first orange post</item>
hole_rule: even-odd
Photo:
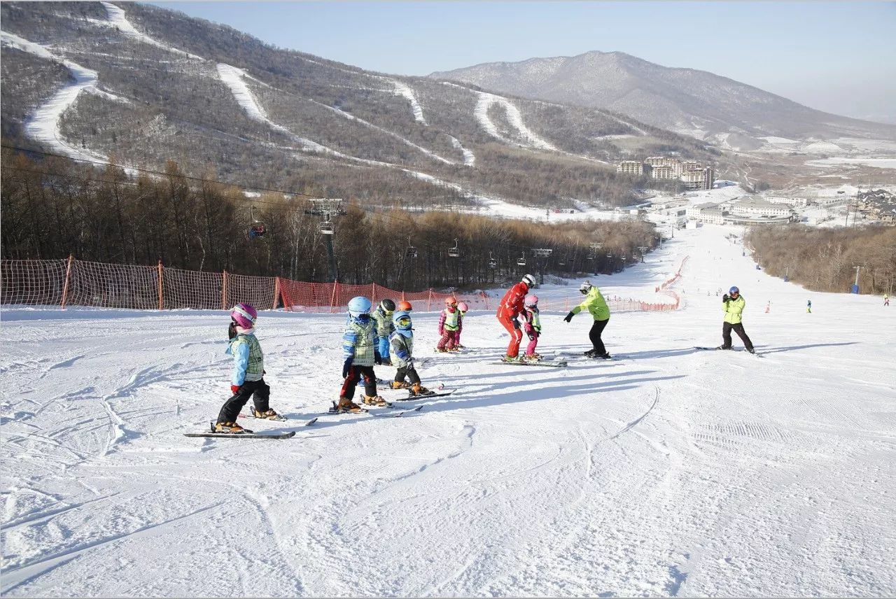
[[[0,261],[0,304],[62,304],[70,267],[65,260]]]

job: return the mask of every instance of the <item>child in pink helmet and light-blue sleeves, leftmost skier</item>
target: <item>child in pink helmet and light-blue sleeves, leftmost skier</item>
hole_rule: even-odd
[[[258,312],[250,304],[237,304],[230,311],[230,343],[225,353],[233,355],[233,375],[230,378],[233,395],[221,406],[215,432],[252,432],[237,424],[237,415],[249,398],[253,400],[252,414],[256,418],[278,417],[268,405],[271,388],[264,382],[264,355],[255,338],[257,318]]]

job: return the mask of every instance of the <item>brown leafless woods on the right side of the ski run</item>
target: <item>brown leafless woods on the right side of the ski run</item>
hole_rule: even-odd
[[[861,293],[892,293],[896,283],[894,227],[753,227],[746,243],[768,274],[813,291],[849,291],[856,267]]]

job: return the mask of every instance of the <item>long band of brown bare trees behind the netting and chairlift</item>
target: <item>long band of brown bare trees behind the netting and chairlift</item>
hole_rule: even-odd
[[[185,175],[136,178],[121,167],[3,151],[4,259],[59,259],[328,281],[331,268],[314,184],[300,193],[244,190]],[[266,228],[248,235],[253,221]],[[258,223],[255,223],[257,225]],[[408,291],[503,281],[527,271],[614,272],[658,239],[650,223],[536,223],[446,211],[375,211],[346,198],[332,219],[340,282]],[[592,244],[600,244],[599,249]],[[457,247],[458,256],[449,252]],[[532,248],[552,250],[544,262]],[[525,265],[518,261],[526,261]]]

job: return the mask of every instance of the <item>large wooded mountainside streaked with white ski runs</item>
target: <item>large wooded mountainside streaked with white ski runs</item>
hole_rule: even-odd
[[[3,3],[4,140],[364,200],[625,201],[608,164],[702,142],[603,109],[370,73],[147,4]]]

